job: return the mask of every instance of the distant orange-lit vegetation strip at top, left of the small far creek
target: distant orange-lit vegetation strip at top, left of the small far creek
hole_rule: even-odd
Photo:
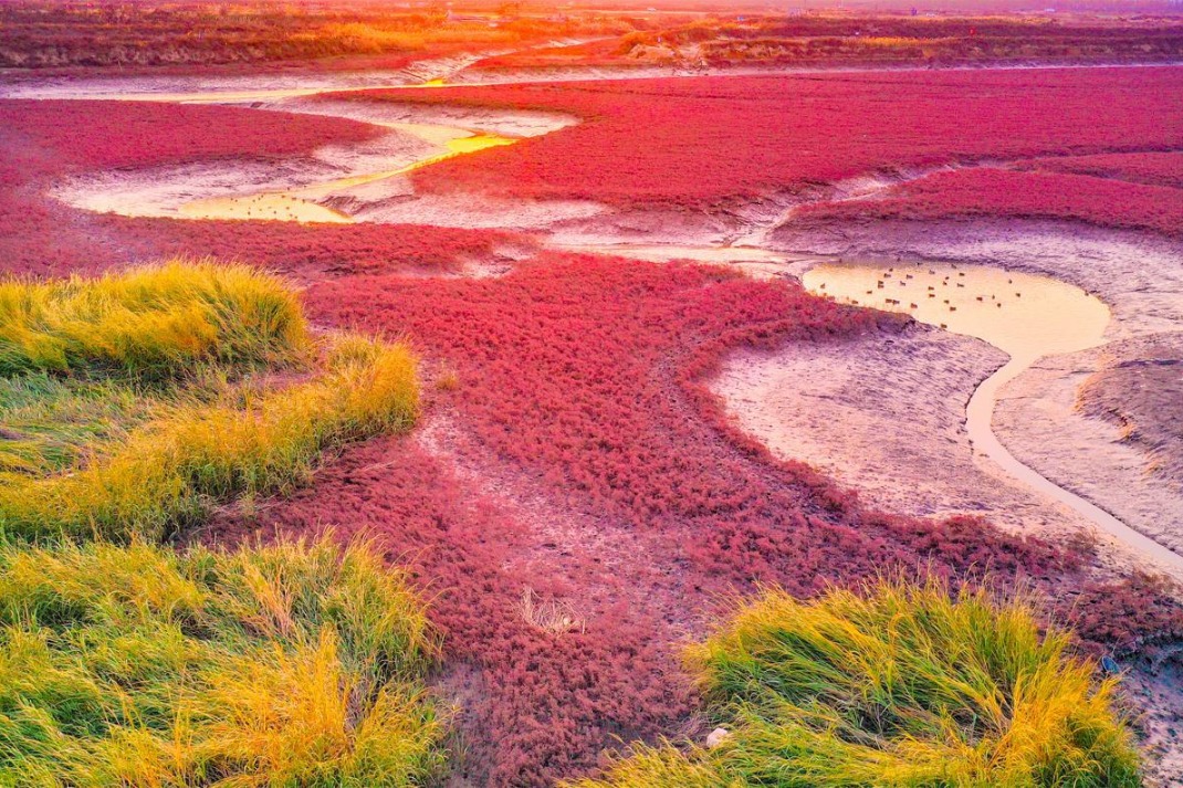
[[[381,4],[5,4],[0,66],[211,66],[384,56],[373,65],[397,69],[412,58],[635,30],[627,14],[530,15],[513,4],[455,11]]]

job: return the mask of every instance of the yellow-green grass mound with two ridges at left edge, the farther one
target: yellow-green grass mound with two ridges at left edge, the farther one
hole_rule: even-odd
[[[0,532],[157,540],[409,426],[401,344],[313,337],[283,280],[172,263],[0,284]]]

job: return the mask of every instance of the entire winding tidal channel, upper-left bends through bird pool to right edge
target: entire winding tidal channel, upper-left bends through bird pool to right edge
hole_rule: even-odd
[[[111,91],[110,85],[105,85],[98,96],[88,93],[82,86],[75,86],[73,92],[69,95],[50,91],[41,97],[220,103],[261,105],[270,110],[289,109],[284,106],[284,102],[291,99],[296,103],[289,111],[334,115],[337,112],[332,108],[343,105],[343,102],[318,104],[315,110],[309,110],[299,102],[310,99],[318,92],[338,89],[284,91],[270,88],[253,92],[239,90],[232,93],[144,93],[136,92],[131,85],[128,91],[117,93]],[[348,104],[356,106],[357,103]],[[341,116],[347,117],[344,114]],[[192,187],[200,183],[202,174],[183,172],[177,174],[180,180],[175,185],[166,186],[163,189],[159,181],[160,174],[156,173],[142,177],[138,185],[124,189],[116,196],[111,196],[111,193],[112,189],[118,192],[119,183],[104,181],[102,177],[90,182],[85,188],[73,187],[69,194],[57,194],[77,207],[115,211],[128,215],[351,222],[360,218],[348,211],[348,205],[335,202],[332,199],[335,195],[348,194],[349,189],[357,187],[379,185],[452,156],[512,144],[519,138],[499,130],[470,125],[360,118],[356,115],[349,117],[377,123],[393,133],[413,138],[418,147],[412,149],[416,153],[409,159],[407,149],[402,150],[400,156],[387,159],[374,154],[358,156],[350,159],[345,168],[338,167],[331,175],[309,175],[305,172],[295,181],[290,179],[285,181],[283,175],[264,177],[260,181],[258,174],[239,181],[224,179],[220,190],[213,193],[200,188],[194,192]],[[535,133],[544,134],[562,128],[570,121],[567,118],[550,127],[543,124]],[[524,133],[522,136],[529,134]],[[141,194],[151,199],[140,201]],[[567,248],[631,256],[631,247],[626,245],[567,246]],[[754,273],[768,272],[769,266],[775,271],[777,263],[786,259],[786,256],[778,252],[755,247],[657,245],[636,250],[636,257],[647,259],[699,259],[712,264],[748,266]],[[976,337],[1006,353],[1009,361],[977,386],[967,406],[965,429],[971,451],[988,458],[1027,487],[1071,508],[1103,532],[1145,558],[1172,570],[1174,574],[1183,574],[1183,556],[1148,538],[1100,506],[1056,485],[1019,461],[1002,445],[993,428],[995,406],[1000,392],[1008,382],[1019,377],[1040,359],[1084,350],[1103,342],[1110,323],[1110,310],[1099,298],[1053,278],[976,265],[821,261],[806,271],[802,282],[815,293],[860,306],[906,312],[917,321],[955,334]],[[1087,457],[1080,457],[1080,461],[1087,461]]]

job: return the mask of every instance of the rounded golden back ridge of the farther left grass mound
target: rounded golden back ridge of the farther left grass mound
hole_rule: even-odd
[[[97,279],[0,282],[0,375],[274,363],[309,342],[296,293],[241,265],[173,261]]]

